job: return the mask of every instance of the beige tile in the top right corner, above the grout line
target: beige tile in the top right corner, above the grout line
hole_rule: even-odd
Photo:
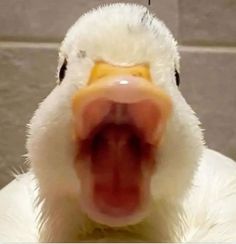
[[[235,0],[179,0],[182,44],[236,45]]]

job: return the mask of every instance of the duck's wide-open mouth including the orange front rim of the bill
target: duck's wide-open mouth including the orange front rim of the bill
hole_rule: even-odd
[[[91,218],[119,225],[144,211],[170,109],[164,92],[132,76],[102,79],[75,95],[75,164]]]

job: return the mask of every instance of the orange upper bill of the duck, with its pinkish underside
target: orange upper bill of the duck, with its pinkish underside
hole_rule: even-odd
[[[148,66],[106,63],[94,66],[87,86],[74,95],[72,106],[80,139],[112,111],[115,123],[130,117],[150,143],[160,139],[172,107],[170,97],[152,83]]]

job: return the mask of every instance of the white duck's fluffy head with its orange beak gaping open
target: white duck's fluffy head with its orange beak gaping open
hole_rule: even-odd
[[[164,24],[144,7],[105,6],[75,23],[59,56],[58,85],[27,142],[41,199],[73,199],[91,220],[124,226],[158,199],[182,197],[202,135],[176,85]]]

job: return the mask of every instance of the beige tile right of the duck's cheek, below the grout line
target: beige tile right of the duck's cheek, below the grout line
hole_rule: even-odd
[[[200,117],[207,144],[236,159],[235,49],[185,48],[181,54],[181,90]]]

